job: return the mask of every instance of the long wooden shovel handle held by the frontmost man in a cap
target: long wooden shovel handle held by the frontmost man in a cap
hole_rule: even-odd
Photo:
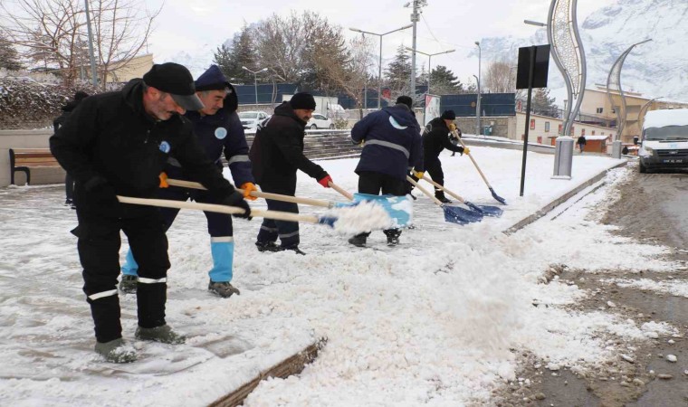
[[[198,211],[227,213],[227,214],[244,213],[244,209],[242,209],[242,208],[237,208],[235,206],[217,205],[217,204],[200,204],[200,203],[196,203],[196,202],[172,201],[172,200],[167,200],[167,199],[135,198],[132,196],[120,196],[120,195],[117,195],[117,199],[122,204],[159,206],[162,208],[196,209]],[[267,218],[267,219],[274,219],[277,221],[288,221],[288,222],[318,223],[320,221],[318,216],[300,215],[297,213],[280,212],[280,211],[261,211],[258,209],[252,209],[251,210],[251,216],[256,217],[256,218]]]

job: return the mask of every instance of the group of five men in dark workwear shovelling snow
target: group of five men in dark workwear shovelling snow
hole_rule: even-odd
[[[369,114],[352,128],[353,142],[363,146],[356,167],[359,193],[406,195],[409,171],[419,179],[425,169],[443,185],[440,152],[444,148],[464,152],[450,138],[460,135],[453,111],[432,120],[421,136],[412,105],[413,99],[401,96],[394,106]],[[277,106],[272,117],[259,125],[251,148],[237,107],[234,88],[217,66],[194,80],[186,67],[168,62],[154,65],[122,90],[85,99],[80,95],[78,106],[55,127],[50,147],[75,181],[78,225],[72,233],[78,237],[95,351],[105,360],[137,359],[134,347],[122,338],[119,291],[137,295],[136,338],[165,344],[186,340],[165,320],[170,267],[166,232],[178,209],[120,204],[118,195],[224,204],[244,210],[234,216],[251,219],[246,201],[255,199],[251,193],[258,191],[256,185],[263,192],[293,196],[298,170],[323,187],[332,185],[331,176],[303,155],[305,126],[316,108],[310,94],[297,93]],[[241,192],[222,174],[223,155]],[[205,190],[161,188],[161,174],[199,183]],[[448,202],[441,190],[435,191],[437,198]],[[299,211],[297,204],[266,202],[270,210]],[[231,284],[232,218],[212,212],[205,212],[205,217],[213,258],[208,290],[229,298],[239,294]],[[120,231],[127,235],[129,251],[118,290]],[[389,245],[398,243],[399,229],[384,232]],[[368,234],[358,234],[349,243],[365,246]],[[258,251],[305,254],[299,243],[298,222],[268,219],[255,241]]]

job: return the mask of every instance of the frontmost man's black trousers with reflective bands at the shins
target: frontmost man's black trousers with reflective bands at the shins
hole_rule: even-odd
[[[167,236],[156,208],[147,208],[129,219],[85,213],[77,207],[79,226],[72,232],[83,268],[83,292],[91,305],[98,342],[121,337],[119,321],[119,231],[129,238],[131,251],[139,263],[137,289],[139,327],[165,325],[167,301]],[[141,283],[141,279],[146,281]]]

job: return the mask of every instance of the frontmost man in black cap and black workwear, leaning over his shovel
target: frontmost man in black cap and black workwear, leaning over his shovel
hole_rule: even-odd
[[[53,156],[76,180],[79,225],[72,233],[79,238],[83,291],[95,323],[95,350],[110,362],[136,359],[133,347],[122,339],[119,321],[119,231],[129,238],[139,262],[136,337],[167,344],[185,340],[165,322],[169,260],[158,209],[119,204],[117,195],[156,196],[158,175],[171,156],[189,179],[218,196],[218,202],[239,206],[243,216],[250,215],[243,195],[205,156],[191,124],[180,116],[186,109],[202,108],[185,67],[171,62],[153,65],[142,80],[130,80],[121,91],[84,99],[50,138]]]

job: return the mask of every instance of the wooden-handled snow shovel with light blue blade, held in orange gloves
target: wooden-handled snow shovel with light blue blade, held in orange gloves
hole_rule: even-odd
[[[199,183],[193,182],[193,181],[184,181],[184,180],[172,179],[172,178],[167,178],[166,181],[167,181],[167,185],[205,190],[205,186],[203,186]],[[328,209],[348,208],[348,207],[356,206],[362,202],[374,202],[375,204],[381,206],[385,210],[385,212],[387,212],[387,215],[389,215],[389,217],[392,218],[392,223],[395,225],[395,227],[404,227],[404,226],[407,226],[408,224],[411,223],[412,214],[413,214],[413,204],[411,204],[411,201],[406,196],[369,195],[369,194],[353,194],[352,195],[352,194],[349,194],[348,192],[346,192],[345,190],[343,190],[341,188],[339,188],[339,190],[338,191],[340,194],[346,194],[345,196],[349,197],[349,199],[352,200],[353,202],[352,203],[339,203],[339,202],[332,202],[332,201],[322,201],[320,199],[300,198],[297,196],[282,195],[282,194],[271,194],[271,193],[264,193],[261,191],[252,191],[251,195],[255,196],[257,198],[272,199],[275,201],[291,202],[291,203],[295,203],[295,204],[307,204],[307,205],[312,205],[312,206],[320,206],[320,207],[328,208]],[[244,194],[243,189],[237,188],[236,191]]]

